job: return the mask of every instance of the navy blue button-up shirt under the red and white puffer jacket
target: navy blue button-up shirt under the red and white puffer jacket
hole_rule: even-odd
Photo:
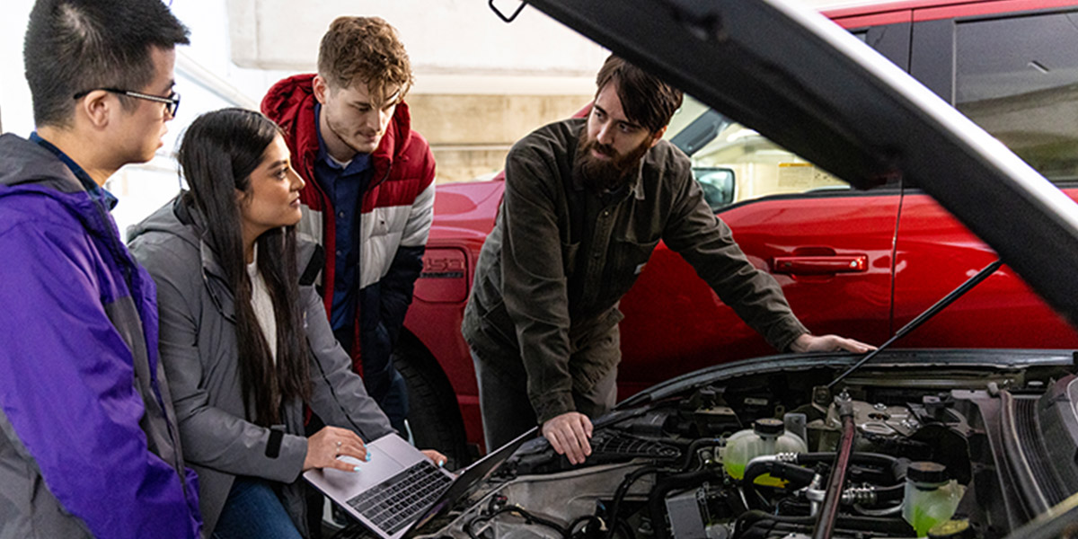
[[[315,105],[315,128],[318,132],[318,158],[315,160],[315,180],[330,198],[334,212],[336,252],[333,254],[336,282],[330,324],[334,332],[350,330],[356,321],[359,301],[359,226],[362,196],[371,181],[371,155],[358,153],[345,166],[330,157],[322,140],[321,105]]]

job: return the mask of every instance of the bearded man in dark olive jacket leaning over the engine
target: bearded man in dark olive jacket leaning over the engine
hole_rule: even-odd
[[[461,331],[488,450],[540,425],[571,464],[617,396],[618,310],[660,240],[776,349],[863,353],[812,335],[704,201],[663,140],[681,92],[610,56],[586,119],[533,132],[506,158],[506,193],[480,253]]]

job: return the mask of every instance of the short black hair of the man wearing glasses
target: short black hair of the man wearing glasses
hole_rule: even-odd
[[[82,92],[142,89],[150,47],[185,45],[188,33],[161,0],[38,0],[23,42],[34,123],[67,125]]]

